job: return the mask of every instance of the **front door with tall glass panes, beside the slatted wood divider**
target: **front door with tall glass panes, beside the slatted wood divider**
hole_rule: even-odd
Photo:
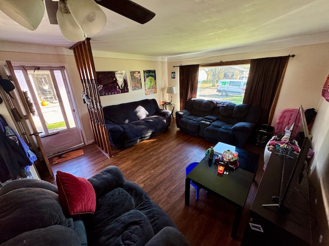
[[[48,157],[82,146],[64,67],[13,68]]]

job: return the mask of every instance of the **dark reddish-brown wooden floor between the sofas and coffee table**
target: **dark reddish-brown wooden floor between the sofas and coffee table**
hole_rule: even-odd
[[[204,190],[200,191],[199,200],[196,201],[193,199],[195,189],[191,187],[190,206],[184,205],[185,168],[189,163],[201,160],[210,146],[213,144],[204,138],[180,132],[172,120],[165,133],[139,142],[129,149],[113,150],[111,158],[103,155],[96,145],[88,145],[83,147],[83,156],[53,165],[52,170],[54,174],[61,170],[89,178],[108,166],[117,166],[126,180],[138,183],[147,191],[193,246],[240,245],[248,209],[263,175],[263,149],[251,145],[245,147],[246,150],[259,153],[260,161],[234,240],[230,234],[235,208],[229,203],[210,193],[206,194]],[[53,178],[47,178],[47,181],[56,183]]]

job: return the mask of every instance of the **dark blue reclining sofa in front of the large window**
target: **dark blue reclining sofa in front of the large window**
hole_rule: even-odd
[[[243,147],[261,114],[260,107],[205,99],[189,99],[186,109],[176,112],[180,131],[208,141]]]

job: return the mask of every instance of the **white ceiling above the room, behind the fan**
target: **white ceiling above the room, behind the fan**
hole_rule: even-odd
[[[329,37],[328,0],[134,2],[156,16],[141,25],[102,7],[107,23],[100,33],[89,36],[93,50],[173,57],[308,38],[314,34]],[[74,44],[62,37],[58,25],[49,24],[47,13],[38,29],[30,31],[0,11],[0,33],[0,40],[7,42],[66,48]]]

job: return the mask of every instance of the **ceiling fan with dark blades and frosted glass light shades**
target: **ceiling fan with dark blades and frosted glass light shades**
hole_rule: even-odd
[[[82,41],[103,29],[106,15],[103,6],[140,24],[149,22],[155,13],[131,0],[1,0],[0,10],[23,27],[34,31],[44,16],[45,5],[50,24],[58,24],[63,37]]]

